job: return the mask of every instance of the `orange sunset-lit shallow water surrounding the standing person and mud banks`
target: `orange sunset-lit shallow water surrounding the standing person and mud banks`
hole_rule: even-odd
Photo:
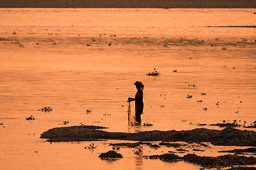
[[[1,8],[0,168],[198,169],[142,159],[128,148],[119,151],[123,159],[105,162],[97,157],[112,149],[112,141],[95,142],[91,152],[85,149],[91,142],[50,144],[39,137],[81,123],[112,132],[202,128],[198,123],[221,129],[209,124],[223,120],[249,125],[256,120],[256,30],[207,26],[253,26],[253,12]],[[146,76],[154,68],[161,75]],[[135,81],[145,85],[142,123],[152,127],[127,125],[126,101],[136,93]],[[53,111],[38,111],[45,106]],[[26,120],[30,115],[36,120]],[[216,156],[220,149],[227,148],[196,154]],[[169,150],[144,146],[143,154]]]

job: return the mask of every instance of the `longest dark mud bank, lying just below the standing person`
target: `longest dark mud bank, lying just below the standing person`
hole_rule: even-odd
[[[106,132],[100,126],[71,126],[53,128],[41,134],[40,138],[48,142],[81,142],[97,140],[131,140],[131,141],[163,141],[163,142],[210,142],[212,145],[223,146],[256,146],[256,132],[225,128],[223,130],[210,130],[197,128],[194,130],[169,130],[146,132]]]

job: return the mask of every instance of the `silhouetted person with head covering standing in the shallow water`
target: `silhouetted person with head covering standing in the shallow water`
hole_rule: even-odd
[[[142,123],[142,118],[140,117],[143,113],[143,89],[144,89],[144,84],[142,84],[141,81],[136,81],[134,83],[136,85],[137,94],[135,95],[135,98],[128,98],[127,102],[135,101],[135,118],[136,122],[141,124]]]

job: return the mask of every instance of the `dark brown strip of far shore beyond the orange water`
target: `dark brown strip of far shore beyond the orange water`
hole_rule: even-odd
[[[1,0],[0,8],[256,8],[255,0]]]

